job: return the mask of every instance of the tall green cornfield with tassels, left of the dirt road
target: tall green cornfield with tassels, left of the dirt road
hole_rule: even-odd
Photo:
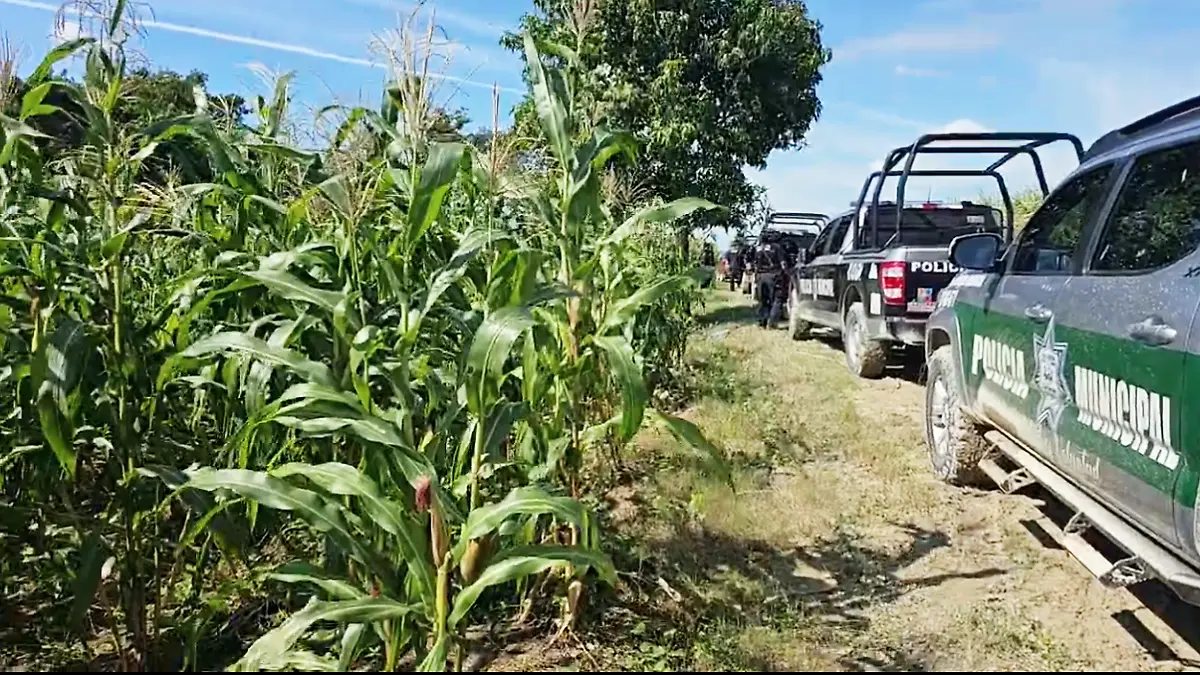
[[[250,124],[198,91],[130,129],[126,10],[0,117],[4,623],[121,670],[445,670],[554,598],[571,629],[617,581],[589,458],[653,420],[725,470],[652,405],[698,301],[676,221],[718,207],[622,201],[631,136],[529,37],[536,168],[439,141],[404,71],[316,151],[287,77]],[[184,138],[205,171],[163,171]]]

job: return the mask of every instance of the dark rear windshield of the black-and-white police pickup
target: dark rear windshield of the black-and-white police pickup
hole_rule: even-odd
[[[876,219],[878,232],[871,243],[871,219],[866,219],[863,228],[864,247],[872,249],[888,245],[907,246],[946,246],[960,234],[974,232],[995,232],[1001,234],[1000,215],[988,207],[904,209],[900,220],[900,233],[895,229],[895,207],[880,207]]]

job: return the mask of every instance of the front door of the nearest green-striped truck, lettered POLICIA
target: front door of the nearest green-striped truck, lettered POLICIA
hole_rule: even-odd
[[[1084,234],[1103,202],[1111,174],[1112,167],[1104,166],[1061,185],[1009,247],[1004,273],[974,276],[983,286],[982,293],[959,295],[960,315],[972,315],[967,322],[972,335],[961,341],[966,386],[997,426],[1038,454],[1044,448],[1039,426],[1057,424],[1061,413],[1050,408],[1051,419],[1044,419],[1046,410],[1039,407],[1033,388],[1034,377],[1049,372],[1052,359],[1060,358],[1061,338],[1055,333],[1052,307],[1079,267]],[[1044,390],[1066,390],[1061,380],[1037,381]]]

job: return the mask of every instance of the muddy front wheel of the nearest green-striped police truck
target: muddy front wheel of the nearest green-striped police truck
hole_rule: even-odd
[[[929,357],[925,383],[925,447],[934,474],[952,485],[979,483],[979,460],[990,443],[983,430],[962,412],[962,394],[954,378],[954,354],[949,346]]]

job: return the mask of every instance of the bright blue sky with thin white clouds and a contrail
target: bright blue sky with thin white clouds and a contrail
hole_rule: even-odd
[[[619,0],[612,0],[619,1]],[[833,48],[818,90],[823,112],[803,150],[775,153],[748,175],[780,210],[838,213],[894,147],[937,130],[1069,131],[1085,144],[1162,106],[1200,94],[1196,0],[809,0]],[[53,43],[55,2],[0,0],[0,30],[24,46],[26,71]],[[216,91],[264,91],[248,67],[296,71],[296,95],[378,101],[385,71],[370,43],[413,5],[398,0],[157,0],[144,53],[161,67],[205,71]],[[491,85],[508,113],[520,60],[497,41],[527,0],[430,0],[446,77],[439,101],[491,118]],[[421,24],[424,25],[424,23]],[[68,30],[71,26],[68,26]],[[956,160],[961,166],[964,160]],[[974,160],[976,165],[984,161]],[[1051,181],[1072,168],[1045,156]],[[922,162],[929,168],[935,162]],[[1008,173],[1032,184],[1027,162]],[[910,199],[970,198],[985,184],[916,181]],[[724,238],[722,238],[724,239]]]

